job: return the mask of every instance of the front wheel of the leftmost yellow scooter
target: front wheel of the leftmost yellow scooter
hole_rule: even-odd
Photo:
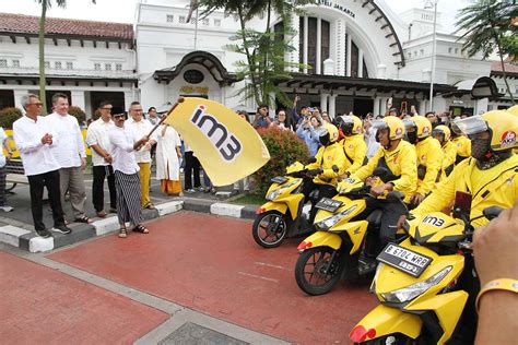
[[[251,226],[254,240],[263,248],[281,246],[286,237],[287,225],[284,215],[278,211],[259,214]]]

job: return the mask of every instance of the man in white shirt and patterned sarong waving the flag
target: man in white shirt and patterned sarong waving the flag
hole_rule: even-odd
[[[122,109],[114,108],[115,126],[109,130],[111,156],[114,157],[115,187],[117,189],[117,217],[119,219],[119,237],[126,238],[126,223],[131,223],[133,231],[148,234],[142,223],[142,204],[140,198],[139,165],[136,151],[149,141],[146,135],[134,141],[133,132],[125,126],[126,115]]]

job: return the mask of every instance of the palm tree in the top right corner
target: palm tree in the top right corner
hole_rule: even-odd
[[[518,32],[518,26],[513,25],[516,16],[518,16],[516,0],[476,0],[460,10],[456,16],[457,33],[464,32],[459,38],[466,39],[462,51],[467,51],[469,57],[481,51],[482,59],[485,60],[496,49],[502,63],[504,82],[513,104],[515,99],[507,82],[504,56],[513,49],[516,51],[516,47],[513,48],[513,40],[509,46],[509,38],[507,38]],[[516,39],[514,41],[516,43]]]

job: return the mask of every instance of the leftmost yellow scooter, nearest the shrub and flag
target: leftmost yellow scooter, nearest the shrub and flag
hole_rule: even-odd
[[[307,236],[313,231],[313,226],[308,222],[311,206],[305,207],[303,194],[304,182],[313,178],[314,176],[307,175],[307,168],[299,162],[290,165],[285,176],[272,178],[272,185],[266,194],[269,201],[257,209],[257,216],[251,227],[254,240],[259,246],[279,247],[285,238],[305,234]],[[311,203],[316,202],[317,198],[315,193],[309,195]]]

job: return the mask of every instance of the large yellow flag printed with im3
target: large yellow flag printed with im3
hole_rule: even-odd
[[[189,144],[214,186],[234,183],[270,159],[254,127],[217,102],[185,98],[165,122]]]

